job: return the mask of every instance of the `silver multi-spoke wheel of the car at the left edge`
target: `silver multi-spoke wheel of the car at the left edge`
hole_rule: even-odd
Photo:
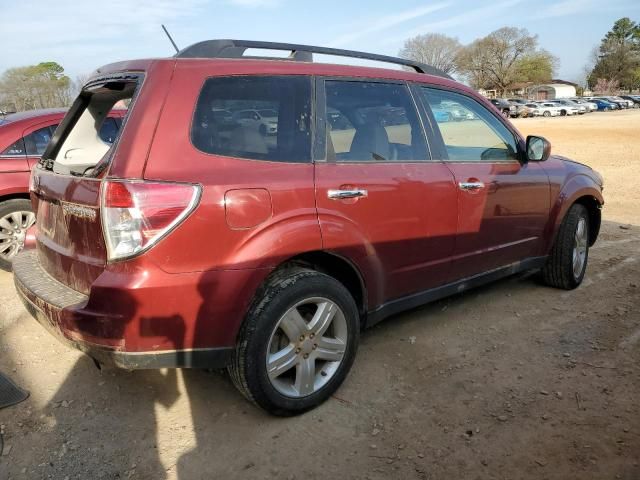
[[[35,221],[29,200],[15,198],[0,203],[0,269],[11,270],[11,261],[24,247],[27,229]]]

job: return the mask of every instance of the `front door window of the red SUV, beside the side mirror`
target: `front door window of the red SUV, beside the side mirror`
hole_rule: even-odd
[[[515,137],[480,103],[445,90],[421,87],[420,91],[438,124],[449,160],[518,160]]]

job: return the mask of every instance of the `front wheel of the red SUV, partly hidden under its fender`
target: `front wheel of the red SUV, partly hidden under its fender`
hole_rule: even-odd
[[[582,283],[589,258],[589,214],[574,204],[565,216],[542,278],[552,287],[572,290]]]

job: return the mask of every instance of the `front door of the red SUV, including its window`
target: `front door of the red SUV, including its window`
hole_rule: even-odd
[[[502,119],[462,93],[419,88],[432,109],[462,109],[466,120],[436,119],[441,156],[458,187],[453,278],[461,279],[539,255],[549,208],[549,179],[523,161],[521,140]]]

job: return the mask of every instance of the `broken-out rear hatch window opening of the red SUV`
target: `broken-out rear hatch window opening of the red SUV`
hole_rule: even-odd
[[[108,165],[124,122],[109,113],[127,109],[141,83],[141,75],[123,74],[85,86],[56,130],[41,165],[61,174],[97,175]]]

